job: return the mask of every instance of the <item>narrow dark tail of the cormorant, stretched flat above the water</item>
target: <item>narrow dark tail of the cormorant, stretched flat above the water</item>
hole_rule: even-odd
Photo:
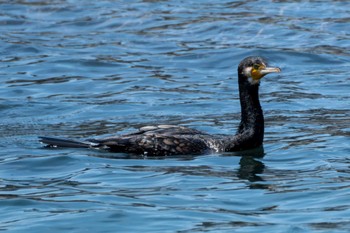
[[[91,148],[98,147],[98,143],[81,142],[71,139],[39,137],[39,141],[51,147],[70,147],[70,148]]]

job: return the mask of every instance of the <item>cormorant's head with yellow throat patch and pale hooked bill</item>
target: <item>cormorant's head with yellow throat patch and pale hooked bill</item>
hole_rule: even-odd
[[[279,73],[278,67],[269,67],[262,57],[244,58],[238,66],[238,75],[245,78],[250,84],[259,84],[260,79],[269,73]]]

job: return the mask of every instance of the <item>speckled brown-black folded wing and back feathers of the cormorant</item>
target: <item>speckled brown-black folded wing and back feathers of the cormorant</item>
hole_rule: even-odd
[[[89,141],[111,151],[149,156],[205,154],[223,149],[219,138],[176,125],[145,126],[135,133]]]

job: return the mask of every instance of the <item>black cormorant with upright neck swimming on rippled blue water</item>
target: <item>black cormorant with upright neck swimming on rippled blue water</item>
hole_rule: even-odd
[[[211,135],[184,126],[155,125],[104,139],[39,139],[52,147],[104,148],[112,152],[147,156],[198,155],[252,149],[261,146],[264,138],[264,116],[259,101],[260,80],[269,73],[278,72],[281,72],[280,68],[269,67],[261,57],[250,56],[239,63],[241,121],[234,135]]]

